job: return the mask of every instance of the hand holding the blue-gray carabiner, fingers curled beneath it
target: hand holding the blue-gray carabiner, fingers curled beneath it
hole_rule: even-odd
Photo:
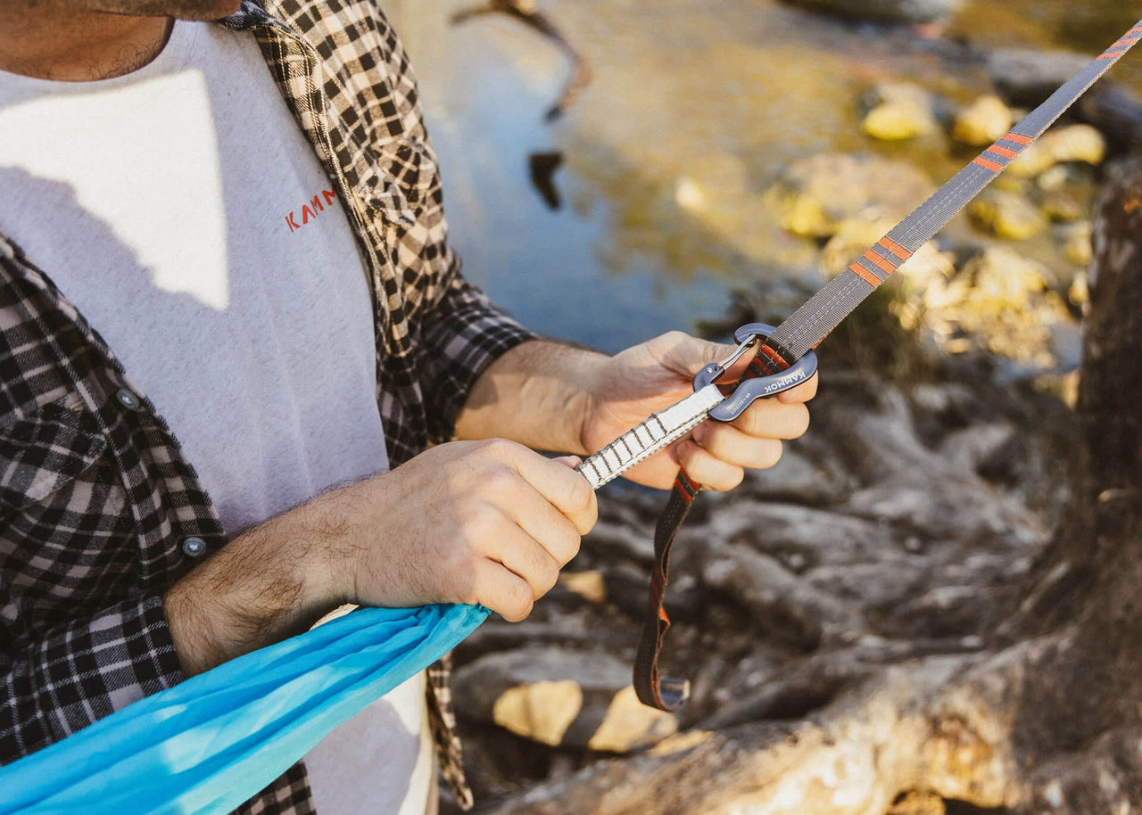
[[[648,415],[693,393],[693,378],[705,365],[726,358],[733,346],[695,339],[678,331],[656,337],[610,357],[595,373],[582,419],[584,449],[594,452]],[[733,382],[751,357],[747,354],[723,377]],[[805,402],[817,394],[817,377],[775,398],[754,402],[731,423],[706,420],[682,441],[627,470],[638,484],[669,489],[678,466],[713,490],[732,490],[746,468],[772,467],[781,439],[797,438],[809,427]]]

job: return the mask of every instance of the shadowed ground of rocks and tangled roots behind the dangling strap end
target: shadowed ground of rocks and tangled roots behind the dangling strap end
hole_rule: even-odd
[[[665,662],[693,694],[677,716],[630,688],[661,495],[602,494],[532,619],[457,651],[481,812],[670,736],[810,716],[885,664],[984,651],[1057,519],[1072,443],[1070,411],[1027,384],[900,386],[826,362],[810,434],[701,495],[678,536]]]

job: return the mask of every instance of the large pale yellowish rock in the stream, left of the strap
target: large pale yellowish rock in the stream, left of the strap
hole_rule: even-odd
[[[892,184],[885,184],[886,178]],[[821,153],[790,163],[765,193],[765,202],[786,229],[828,237],[846,220],[895,223],[933,192],[927,175],[908,162]]]

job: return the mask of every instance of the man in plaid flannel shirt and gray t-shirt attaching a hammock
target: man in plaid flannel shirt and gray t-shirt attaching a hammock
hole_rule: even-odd
[[[445,232],[368,0],[0,0],[0,760],[345,603],[530,613],[595,519],[532,450],[597,450],[725,349],[542,340]],[[629,475],[731,489],[814,388]],[[431,812],[429,729],[465,801],[445,678],[243,810]]]

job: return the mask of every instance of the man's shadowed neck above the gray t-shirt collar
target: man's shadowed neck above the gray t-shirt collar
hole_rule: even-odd
[[[0,71],[25,76],[73,82],[122,76],[154,59],[170,34],[169,17],[14,5],[0,0]]]

